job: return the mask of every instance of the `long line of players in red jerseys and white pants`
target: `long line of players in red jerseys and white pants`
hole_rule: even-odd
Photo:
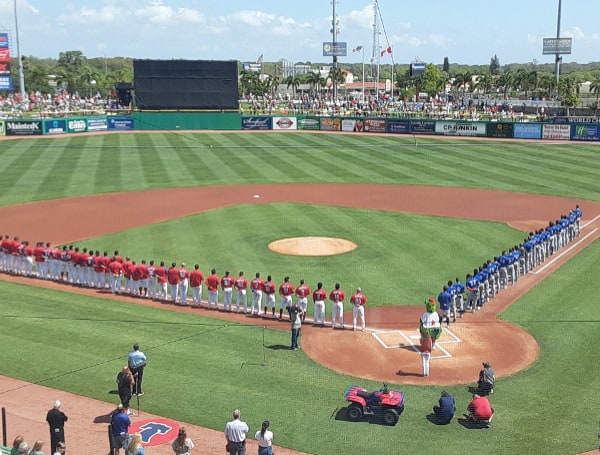
[[[19,241],[5,235],[0,240],[0,264],[2,271],[14,275],[37,277],[68,283],[76,286],[110,289],[114,294],[126,294],[134,297],[145,297],[163,303],[174,303],[181,306],[189,304],[191,290],[191,306],[203,305],[203,287],[207,290],[207,309],[219,309],[219,293],[221,293],[222,309],[233,311],[235,295],[236,312],[243,311],[251,316],[262,314],[266,317],[268,311],[272,318],[276,318],[276,300],[279,297],[279,315],[283,317],[286,307],[292,305],[292,297],[297,298],[298,306],[302,312],[302,321],[306,319],[308,299],[312,296],[314,302],[315,325],[325,325],[325,302],[332,302],[331,326],[344,328],[344,301],[346,294],[336,283],[334,289],[327,293],[323,283],[318,283],[314,292],[300,280],[297,287],[285,277],[283,283],[277,286],[271,275],[263,280],[260,273],[248,281],[243,272],[233,277],[226,271],[222,277],[212,269],[211,274],[204,277],[198,264],[189,270],[185,263],[177,266],[175,262],[166,266],[164,261],[155,264],[154,260],[146,262],[142,259],[139,263],[130,257],[123,258],[118,250],[109,256],[107,251],[100,251],[78,246],[64,245],[62,248],[52,247],[50,243],[38,242],[35,248],[30,247],[28,241]],[[250,299],[248,298],[250,294]],[[264,298],[264,309],[263,309]],[[358,318],[365,329],[364,309],[366,297],[358,288],[351,296],[351,303],[358,308]],[[356,326],[356,317],[354,327]]]

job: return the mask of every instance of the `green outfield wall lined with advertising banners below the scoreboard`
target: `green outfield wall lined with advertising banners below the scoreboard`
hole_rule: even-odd
[[[395,119],[377,117],[318,117],[310,115],[242,116],[237,112],[134,112],[131,116],[93,116],[44,119],[0,120],[0,136],[42,136],[95,131],[173,130],[313,130],[538,139],[552,141],[600,141],[600,122],[579,123],[557,118],[552,123],[483,122],[466,120]]]

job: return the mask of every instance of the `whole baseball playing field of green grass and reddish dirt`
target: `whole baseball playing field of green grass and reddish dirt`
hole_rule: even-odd
[[[277,283],[289,275],[312,287],[322,281],[327,290],[340,282],[347,293],[361,286],[368,310],[421,304],[448,279],[464,278],[575,204],[592,223],[583,234],[595,232],[600,214],[600,149],[594,144],[173,132],[0,145],[2,234],[117,248],[138,260],[198,263],[205,274],[213,267],[234,275],[243,270],[248,278],[259,271]],[[190,188],[203,191],[182,191]],[[269,196],[272,188],[284,196]],[[306,196],[311,188],[314,194]],[[384,193],[391,205],[381,203]],[[107,205],[95,205],[95,198]],[[430,208],[439,199],[446,210]],[[552,201],[557,211],[531,200]],[[406,208],[411,201],[417,206]],[[54,211],[42,214],[50,203]],[[321,236],[358,247],[332,256],[282,255],[267,247],[274,240]],[[463,337],[470,327],[489,332],[481,361],[494,363],[501,355],[518,360],[530,347],[506,352],[505,344],[494,343],[496,324],[514,324],[539,349],[520,371],[500,368],[491,429],[469,429],[458,420],[436,426],[426,417],[443,388],[456,397],[457,417],[466,411],[478,370],[461,363],[460,354],[451,368],[466,370],[460,373],[471,380],[426,382],[416,370],[390,381],[406,394],[397,426],[349,422],[346,387],[378,388],[375,379],[389,371],[365,372],[359,357],[354,365],[348,356],[340,371],[302,350],[292,352],[287,324],[172,311],[170,305],[74,293],[69,286],[40,288],[33,280],[0,281],[2,374],[114,403],[114,377],[137,341],[149,357],[144,410],[180,422],[222,430],[239,407],[251,430],[269,419],[277,445],[315,454],[581,453],[596,447],[600,425],[598,242],[576,253],[524,295],[507,290],[504,298],[516,301],[500,320],[466,317],[457,324],[466,330]],[[303,334],[307,343],[313,332]],[[340,357],[355,335],[363,336],[335,332],[319,334],[319,342]],[[443,361],[432,361],[433,379]],[[390,371],[402,369],[393,365]],[[0,403],[7,393],[0,391]]]

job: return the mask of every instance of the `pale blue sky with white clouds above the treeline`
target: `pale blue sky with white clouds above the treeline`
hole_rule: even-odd
[[[0,31],[14,37],[14,0],[0,0]],[[86,57],[329,62],[330,0],[16,0],[21,53]],[[337,40],[348,55],[373,55],[373,1],[340,0]],[[380,46],[395,63],[552,63],[542,38],[556,36],[558,0],[379,0]],[[563,0],[561,36],[572,37],[564,62],[600,61],[600,2]],[[14,41],[14,40],[13,40]],[[13,47],[14,48],[14,47]],[[16,50],[13,50],[16,54]],[[379,51],[376,51],[379,54]],[[390,63],[385,55],[382,63]]]

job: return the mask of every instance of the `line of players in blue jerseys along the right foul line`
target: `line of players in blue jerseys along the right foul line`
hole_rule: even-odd
[[[576,239],[581,233],[581,215],[577,205],[556,222],[550,221],[545,228],[530,232],[522,244],[473,269],[464,284],[459,278],[448,281],[438,295],[442,322],[450,327],[450,319],[456,322],[457,314],[462,318],[467,311],[475,313],[500,290],[515,284],[519,277]]]

